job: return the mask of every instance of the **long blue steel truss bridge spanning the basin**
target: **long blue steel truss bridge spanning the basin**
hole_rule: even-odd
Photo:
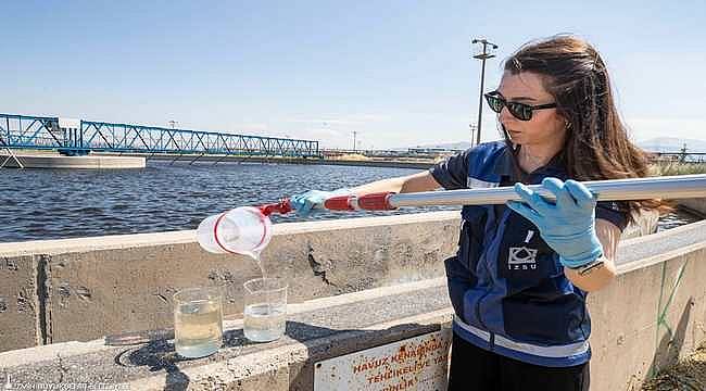
[[[194,161],[234,157],[320,159],[318,141],[244,136],[154,126],[0,114],[0,149],[56,150],[65,155],[91,151],[174,156]],[[210,159],[212,160],[212,159]]]

